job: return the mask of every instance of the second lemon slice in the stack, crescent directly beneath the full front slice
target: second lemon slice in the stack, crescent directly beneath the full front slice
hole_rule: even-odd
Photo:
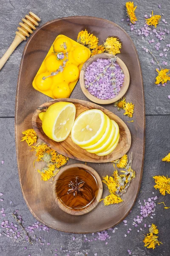
[[[96,142],[95,144],[89,146],[89,147],[82,147],[86,150],[94,150],[96,148],[99,148],[101,147],[103,144],[106,143],[106,141],[108,140],[110,134],[111,134],[111,131],[112,131],[112,123],[111,123],[111,119],[107,116],[107,128],[106,128],[106,131],[105,133],[103,134],[102,138]]]

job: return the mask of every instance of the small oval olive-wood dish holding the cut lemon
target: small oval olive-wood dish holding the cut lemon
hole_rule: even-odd
[[[68,138],[61,142],[56,142],[51,140],[42,130],[42,121],[39,118],[39,113],[45,112],[49,106],[56,102],[71,102],[76,106],[76,117],[79,116],[82,112],[89,109],[100,109],[103,111],[110,119],[113,119],[119,125],[120,139],[116,148],[107,156],[97,156],[96,154],[89,153],[83,148],[80,148],[71,140],[71,135]],[[94,162],[94,163],[105,163],[111,162],[122,157],[129,150],[131,145],[131,135],[130,131],[125,124],[118,116],[113,114],[111,111],[108,111],[106,108],[102,108],[99,105],[96,105],[91,102],[87,102],[79,99],[53,99],[49,102],[45,102],[39,108],[36,109],[32,116],[32,127],[36,131],[38,137],[46,143],[49,147],[56,150],[58,153],[65,155],[83,162]]]

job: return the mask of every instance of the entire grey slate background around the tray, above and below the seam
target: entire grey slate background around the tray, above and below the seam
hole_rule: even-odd
[[[94,256],[96,253],[97,256],[126,256],[128,249],[132,251],[133,256],[170,255],[170,209],[164,209],[162,204],[158,204],[153,220],[148,217],[139,227],[134,228],[132,225],[133,218],[139,215],[139,200],[143,202],[144,199],[147,200],[147,198],[152,197],[153,191],[155,192],[154,196],[158,196],[157,202],[164,201],[167,206],[170,206],[170,195],[164,197],[160,195],[153,188],[154,180],[152,178],[153,175],[169,175],[170,171],[170,163],[161,162],[161,158],[170,151],[170,99],[167,97],[170,95],[170,84],[165,87],[157,87],[154,84],[157,66],[150,64],[151,56],[141,48],[142,45],[147,46],[148,38],[142,40],[141,36],[137,36],[134,31],[130,32],[130,26],[126,21],[121,22],[121,19],[126,18],[125,2],[125,0],[0,0],[0,56],[6,52],[13,41],[18,23],[30,10],[41,17],[41,24],[57,17],[87,15],[102,17],[121,26],[133,39],[139,54],[146,107],[146,143],[142,186],[132,212],[126,218],[127,226],[122,222],[117,226],[118,229],[115,233],[113,233],[113,229],[108,230],[111,238],[105,241],[100,241],[97,233],[86,235],[90,240],[94,237],[97,238],[96,241],[91,242],[84,241],[84,235],[62,233],[52,229],[49,232],[36,230],[36,236],[45,239],[44,245],[40,245],[40,243],[29,245],[22,242],[16,244],[13,239],[7,238],[2,233],[3,229],[0,227],[0,233],[2,233],[0,236],[0,256],[49,256],[56,253],[55,249],[58,249],[58,256],[67,256],[67,254],[84,256],[87,255],[86,253],[89,256]],[[158,8],[159,4],[161,4],[161,9]],[[159,26],[167,29],[170,27],[169,0],[136,0],[135,5],[138,6],[136,9],[137,27],[142,27],[144,14],[149,15],[152,10],[154,14],[163,13],[168,22],[166,25],[161,22]],[[170,67],[169,52],[167,52],[167,58],[159,57],[159,53],[169,43],[170,35],[166,35],[165,41],[161,42],[159,52],[154,48],[155,43],[148,46],[159,61],[166,60],[168,62],[167,68]],[[24,225],[28,226],[34,224],[36,220],[28,210],[20,189],[14,138],[17,75],[25,44],[26,42],[23,42],[17,47],[0,71],[0,192],[4,194],[1,196],[4,201],[0,201],[0,210],[3,207],[6,212],[6,217],[2,217],[0,213],[0,223],[3,219],[12,221],[11,212],[19,209],[20,215],[25,220]],[[74,97],[74,93],[71,97]],[[1,164],[2,160],[4,160],[4,164]],[[10,201],[12,204],[9,204]],[[155,250],[145,248],[142,242],[144,234],[148,232],[148,228],[144,228],[144,223],[148,226],[152,222],[159,227],[159,239],[163,242]],[[132,231],[125,237],[128,228],[132,228]],[[139,233],[137,232],[138,229],[140,230]],[[74,237],[75,240],[73,241]],[[51,244],[47,245],[47,242]],[[108,244],[105,244],[106,242]],[[24,247],[27,248],[24,249]],[[70,250],[71,253],[67,250]]]

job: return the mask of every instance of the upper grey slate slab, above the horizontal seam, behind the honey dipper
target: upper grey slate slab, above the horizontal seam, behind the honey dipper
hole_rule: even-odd
[[[155,68],[158,66],[156,64],[150,64],[151,56],[141,48],[142,45],[147,46],[149,39],[154,36],[149,35],[142,40],[142,37],[138,36],[134,31],[130,32],[130,26],[128,26],[127,21],[121,22],[122,18],[126,18],[125,2],[125,0],[86,0],[82,2],[78,0],[30,0],[29,2],[26,0],[0,0],[0,56],[3,55],[13,41],[18,23],[30,10],[41,17],[41,24],[57,17],[75,15],[96,16],[111,20],[125,29],[136,45],[142,67],[146,114],[169,114],[170,100],[167,97],[170,95],[169,85],[157,87],[157,85],[154,84],[156,77]],[[161,21],[159,27],[162,26],[168,29],[170,22],[170,1],[164,0],[161,4],[161,9],[158,7],[159,3],[159,0],[135,1],[135,4],[138,6],[136,9],[136,16],[138,17],[137,28],[141,28],[144,25],[144,15],[149,15],[153,10],[155,14],[164,14],[168,23],[164,24]],[[165,41],[161,41],[159,52],[154,48],[156,43],[157,39],[154,44],[149,44],[149,49],[153,51],[159,61],[162,62],[165,60],[170,65],[169,52],[167,52],[166,58],[159,57],[159,53],[162,52],[166,44],[170,43],[170,34],[166,35]],[[5,67],[0,71],[0,116],[14,116],[14,95],[17,86],[17,75],[25,44],[26,42],[23,42],[18,46]]]

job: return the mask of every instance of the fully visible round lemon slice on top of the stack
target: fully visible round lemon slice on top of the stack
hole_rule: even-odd
[[[107,127],[107,116],[99,109],[81,113],[71,129],[71,139],[82,146],[90,146],[101,139]]]

